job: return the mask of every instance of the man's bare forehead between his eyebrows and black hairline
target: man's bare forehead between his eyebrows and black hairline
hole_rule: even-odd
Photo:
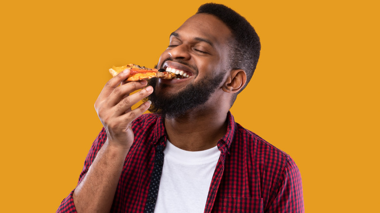
[[[227,44],[232,33],[223,21],[210,14],[195,14],[187,19],[176,31],[183,37],[201,37],[215,44]]]

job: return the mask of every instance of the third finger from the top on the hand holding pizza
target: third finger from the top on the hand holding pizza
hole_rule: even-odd
[[[145,89],[141,89],[140,91],[122,99],[116,106],[114,106],[114,113],[116,115],[122,115],[126,111],[128,111],[131,106],[137,104],[142,99],[148,97],[148,95],[152,94],[153,88],[149,86]]]

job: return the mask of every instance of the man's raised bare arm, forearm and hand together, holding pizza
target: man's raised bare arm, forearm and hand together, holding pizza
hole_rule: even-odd
[[[96,99],[95,110],[104,126],[107,141],[73,193],[79,213],[110,212],[124,161],[133,143],[131,124],[150,106],[150,102],[145,102],[132,110],[131,107],[150,95],[153,89],[146,87],[147,81],[121,84],[129,74],[127,69],[109,80]],[[138,89],[141,90],[131,94]]]

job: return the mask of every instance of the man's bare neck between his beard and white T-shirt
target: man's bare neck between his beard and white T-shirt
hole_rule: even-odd
[[[188,151],[212,148],[227,132],[227,112],[201,110],[177,118],[165,118],[168,140]]]

